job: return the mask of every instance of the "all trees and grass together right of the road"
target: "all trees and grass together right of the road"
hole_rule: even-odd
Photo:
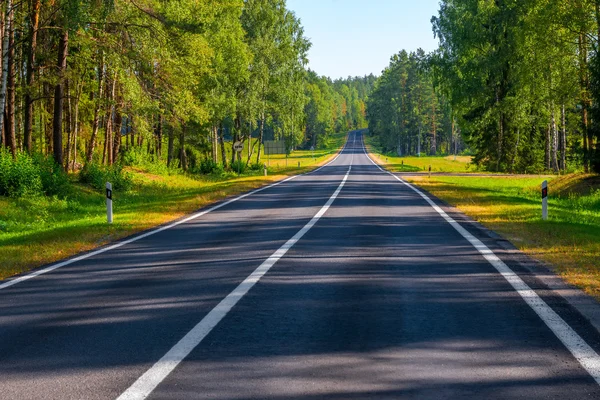
[[[598,2],[443,0],[432,18],[439,47],[393,55],[367,100],[377,162],[598,299],[599,10]],[[431,178],[414,174],[430,165]]]

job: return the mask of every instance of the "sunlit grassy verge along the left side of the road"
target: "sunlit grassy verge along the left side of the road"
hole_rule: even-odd
[[[133,188],[114,193],[115,218],[106,224],[104,193],[73,183],[67,199],[0,196],[0,279],[104,245],[116,239],[182,217],[210,203],[306,172],[329,160],[345,134],[335,135],[327,149],[296,151],[271,159],[262,171],[192,177],[129,168]],[[265,160],[266,161],[266,160]],[[298,167],[300,162],[300,167]]]

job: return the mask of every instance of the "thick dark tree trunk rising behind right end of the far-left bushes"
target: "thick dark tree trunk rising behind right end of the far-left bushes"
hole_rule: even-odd
[[[67,69],[67,51],[69,47],[69,31],[64,29],[58,42],[58,83],[54,87],[54,117],[52,120],[52,140],[54,145],[54,161],[63,164],[62,148],[62,113],[64,100],[64,76]]]

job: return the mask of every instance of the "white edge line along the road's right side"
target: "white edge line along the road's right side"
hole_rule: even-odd
[[[471,243],[473,247],[490,263],[496,270],[506,279],[506,281],[515,289],[517,293],[525,300],[525,302],[535,311],[542,321],[554,332],[556,337],[565,345],[565,347],[579,361],[581,366],[594,378],[596,383],[600,384],[600,356],[586,343],[585,340],[575,332],[564,319],[560,317],[533,289],[529,287],[508,265],[504,263],[489,247],[483,242],[471,235],[469,231],[463,228],[458,222],[450,217],[444,210],[433,202],[425,193],[399,178],[389,171],[383,170],[377,165],[369,154],[365,146],[363,151],[369,161],[373,163],[382,172],[393,176],[400,183],[411,188],[419,196],[421,196],[438,214],[440,214],[446,222],[458,231],[465,239]]]

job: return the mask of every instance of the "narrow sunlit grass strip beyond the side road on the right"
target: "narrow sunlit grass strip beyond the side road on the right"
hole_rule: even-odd
[[[372,158],[392,172],[477,172],[471,164],[470,156],[422,156],[398,157],[391,154],[382,154],[373,143],[373,138],[365,135],[365,143]]]

